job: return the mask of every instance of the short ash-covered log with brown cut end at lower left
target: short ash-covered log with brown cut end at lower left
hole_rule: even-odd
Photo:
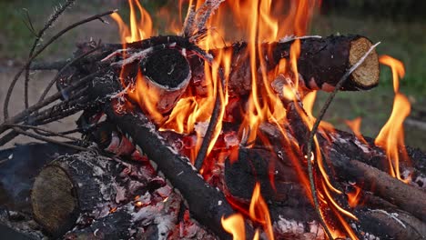
[[[153,174],[149,166],[93,153],[59,157],[35,178],[31,195],[35,220],[50,235],[63,235],[161,185]]]

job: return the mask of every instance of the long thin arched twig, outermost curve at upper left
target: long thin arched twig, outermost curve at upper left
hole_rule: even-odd
[[[38,51],[36,51],[35,54],[33,56],[31,56],[26,61],[25,65],[15,75],[14,79],[12,80],[12,83],[9,85],[9,88],[7,89],[7,94],[5,95],[5,104],[3,106],[5,121],[7,120],[7,118],[9,118],[9,113],[8,113],[8,109],[7,108],[9,106],[10,97],[12,95],[12,91],[14,90],[15,84],[16,84],[19,76],[22,75],[22,73],[24,72],[24,70],[26,69],[26,67],[28,67],[29,65],[31,65],[31,62],[35,59],[36,56],[40,55],[46,49],[46,47],[48,45],[51,45],[53,42],[55,42],[57,38],[59,38],[61,35],[66,34],[66,32],[68,32],[69,30],[75,28],[76,26],[86,24],[86,23],[88,23],[90,21],[93,21],[93,20],[96,20],[96,19],[100,19],[102,16],[111,15],[111,14],[116,13],[116,12],[117,12],[117,9],[116,10],[107,11],[106,13],[99,14],[99,15],[93,15],[93,16],[88,17],[88,18],[86,18],[84,20],[81,20],[81,21],[79,21],[79,22],[77,22],[77,23],[75,23],[73,25],[69,25],[65,29],[63,29],[62,31],[60,31],[59,33],[57,33],[56,35],[54,35],[52,38],[50,38],[49,41],[47,41],[46,45],[41,46],[40,49],[38,49]],[[1,131],[1,125],[0,125],[0,134],[1,133],[2,133],[2,131]]]

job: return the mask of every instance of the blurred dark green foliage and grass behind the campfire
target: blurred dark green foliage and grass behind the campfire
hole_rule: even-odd
[[[10,66],[19,65],[25,60],[34,35],[25,26],[27,12],[35,29],[43,27],[53,8],[65,0],[0,0],[0,72]],[[274,0],[279,1],[279,0]],[[292,1],[292,0],[287,0]],[[50,32],[56,33],[61,27],[69,25],[88,15],[117,8],[123,19],[128,19],[126,0],[80,0],[69,10]],[[157,29],[161,33],[166,18],[178,18],[179,0],[140,0],[141,4],[153,16]],[[166,14],[159,16],[160,9],[167,6]],[[25,10],[24,10],[25,9]],[[321,8],[314,17],[309,34],[368,36],[373,42],[381,42],[380,55],[391,55],[400,59],[406,67],[406,75],[401,80],[401,92],[408,95],[416,112],[426,111],[426,17],[423,0],[322,0]],[[185,11],[184,11],[185,12]],[[48,48],[47,59],[69,57],[77,42],[87,41],[88,37],[101,38],[104,42],[118,42],[117,26],[100,23],[87,25],[62,38],[59,44]],[[5,81],[2,79],[2,82]],[[322,105],[326,94],[320,93],[316,109]],[[363,117],[361,132],[376,136],[391,113],[393,91],[391,71],[382,66],[380,85],[369,92],[340,93],[331,105],[327,120],[339,128],[345,119]],[[421,116],[426,122],[426,115]],[[426,130],[407,125],[407,143],[426,150]]]

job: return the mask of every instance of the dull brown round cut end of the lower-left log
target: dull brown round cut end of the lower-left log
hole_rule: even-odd
[[[60,167],[45,167],[35,178],[31,198],[35,220],[49,234],[58,235],[74,225],[78,208],[76,191]]]

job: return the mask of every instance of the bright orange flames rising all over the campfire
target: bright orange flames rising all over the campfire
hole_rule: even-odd
[[[182,5],[184,1],[179,1],[179,15],[181,15]],[[213,3],[209,2],[210,4]],[[216,1],[215,3],[220,3]],[[202,34],[197,45],[204,50],[214,49],[214,61],[204,63],[204,78],[191,80],[197,81],[193,83],[197,85],[193,88],[188,88],[184,94],[177,97],[176,105],[167,111],[161,111],[157,102],[161,100],[161,95],[157,91],[153,91],[152,88],[147,85],[146,75],[139,69],[136,75],[136,79],[127,81],[125,79],[126,67],[123,65],[120,79],[123,86],[127,89],[127,95],[132,102],[137,105],[150,117],[150,119],[157,125],[160,131],[173,131],[175,133],[185,135],[185,142],[188,151],[185,153],[188,155],[190,160],[194,162],[195,156],[198,154],[200,143],[205,135],[206,127],[205,124],[210,121],[211,113],[215,106],[215,102],[219,101],[220,109],[218,111],[218,125],[216,129],[213,129],[213,136],[208,145],[208,155],[218,156],[214,159],[214,163],[203,165],[200,173],[206,179],[214,178],[215,173],[219,173],[218,165],[223,164],[228,156],[232,161],[238,159],[238,147],[253,147],[257,142],[261,142],[265,146],[270,146],[267,137],[262,135],[260,128],[263,124],[274,125],[279,129],[282,137],[283,149],[286,146],[294,146],[292,151],[286,152],[292,165],[299,176],[299,180],[305,192],[313,203],[313,195],[310,191],[306,165],[307,161],[311,161],[312,165],[315,165],[315,169],[319,169],[320,172],[314,175],[314,182],[317,185],[317,197],[320,199],[320,214],[326,225],[339,225],[339,229],[333,230],[333,236],[350,236],[352,239],[356,239],[357,236],[353,233],[350,225],[347,222],[347,218],[352,220],[358,220],[357,216],[351,214],[348,210],[341,207],[334,199],[333,195],[341,195],[342,192],[333,186],[330,181],[330,176],[325,169],[322,153],[320,152],[320,144],[316,137],[314,137],[314,153],[309,156],[309,160],[300,157],[303,153],[302,149],[299,149],[294,139],[290,139],[286,134],[284,125],[288,124],[286,118],[287,111],[284,105],[284,100],[293,101],[298,103],[299,100],[303,100],[304,109],[296,104],[296,110],[302,117],[302,121],[305,125],[312,128],[315,121],[315,117],[312,115],[312,107],[314,105],[316,93],[312,92],[309,95],[303,95],[303,85],[299,85],[299,73],[298,73],[298,58],[300,55],[300,40],[296,39],[289,48],[289,60],[281,59],[279,65],[274,69],[268,69],[267,62],[269,49],[265,49],[262,45],[265,41],[278,42],[280,37],[285,35],[306,35],[307,28],[309,25],[310,18],[314,9],[316,8],[317,1],[294,1],[289,5],[291,11],[289,15],[282,15],[279,9],[283,8],[284,1],[273,2],[271,0],[250,0],[250,1],[228,1],[223,5],[220,5],[216,15],[212,15],[207,22],[207,30]],[[320,1],[318,1],[320,2]],[[147,11],[139,4],[137,0],[128,0],[130,5],[130,27],[123,22],[121,17],[117,14],[112,15],[116,20],[123,44],[123,48],[127,48],[127,44],[131,42],[140,41],[147,37],[154,35],[152,27],[152,20],[147,14]],[[199,10],[203,7],[202,1],[197,1],[194,6],[194,11]],[[193,5],[193,1],[189,1],[189,6]],[[137,11],[139,11],[140,20],[137,21]],[[188,10],[190,13],[192,10]],[[231,12],[229,12],[231,11]],[[167,15],[166,10],[159,11],[159,15]],[[167,18],[167,17],[166,17]],[[180,18],[179,18],[180,19]],[[171,20],[170,20],[171,21]],[[190,21],[190,19],[187,19]],[[229,23],[235,23],[238,27],[231,28]],[[176,23],[171,22],[169,26],[173,29],[173,32],[177,31]],[[213,28],[212,26],[215,26]],[[184,29],[185,30],[185,29]],[[194,30],[194,29],[192,29]],[[196,31],[196,30],[194,30]],[[227,36],[227,38],[225,38]],[[232,104],[238,103],[240,99],[233,99],[228,92],[228,83],[230,78],[231,69],[239,67],[235,65],[238,59],[232,59],[232,48],[226,48],[233,38],[245,38],[248,40],[247,49],[249,60],[249,66],[243,66],[249,68],[250,80],[250,92],[247,97],[247,101],[244,105],[239,106],[238,119],[238,137],[235,138],[238,141],[235,142],[231,147],[227,145],[226,137],[222,134],[223,122],[235,123],[233,117],[227,115],[227,111]],[[225,40],[224,40],[225,38]],[[222,48],[220,48],[222,47]],[[179,54],[187,57],[186,49],[177,49]],[[122,58],[126,59],[128,53],[123,52]],[[394,76],[394,88],[396,97],[394,104],[394,111],[390,121],[388,122],[380,135],[376,139],[376,142],[382,145],[386,150],[390,159],[391,174],[401,179],[399,171],[399,155],[398,149],[402,149],[403,146],[403,135],[401,125],[403,119],[410,112],[410,104],[406,97],[398,93],[398,75],[404,75],[403,67],[401,62],[392,59],[389,56],[382,56],[380,63],[391,65],[393,76]],[[402,68],[401,68],[402,67]],[[279,76],[284,82],[279,83],[276,87],[280,89],[272,89],[272,82],[277,80]],[[286,82],[286,79],[292,79],[294,85],[290,85]],[[396,79],[396,80],[395,80]],[[129,83],[130,81],[130,83]],[[278,91],[277,91],[278,90]],[[282,92],[281,95],[276,94]],[[283,99],[282,99],[283,98]],[[238,108],[238,107],[237,107]],[[233,109],[235,110],[235,109]],[[230,110],[229,110],[230,111]],[[305,112],[306,111],[306,112]],[[396,114],[398,113],[398,115]],[[362,136],[360,135],[359,126],[360,120],[351,122],[353,131],[359,139],[365,143]],[[392,126],[392,127],[391,127]],[[330,124],[322,123],[321,129],[327,131],[333,131],[333,127]],[[237,130],[235,130],[237,133]],[[185,145],[185,144],[184,144]],[[223,146],[225,145],[225,146]],[[218,150],[219,149],[219,150]],[[308,157],[306,157],[308,158]],[[211,161],[210,161],[211,162]],[[273,164],[273,163],[272,163]],[[217,167],[214,169],[214,167]],[[270,167],[269,169],[274,169]],[[275,173],[269,171],[269,180],[272,188],[275,189],[274,185]],[[350,206],[354,207],[358,204],[359,188],[355,195],[349,195]],[[142,202],[135,200],[137,207],[143,207]],[[164,199],[167,201],[167,198]],[[253,223],[261,225],[262,230],[269,239],[274,239],[273,229],[271,225],[271,219],[269,216],[268,205],[260,195],[260,186],[257,183],[254,187],[253,195],[249,205],[249,211],[245,211],[247,206],[238,205],[236,203],[230,203],[236,209],[240,210],[241,213],[248,216]],[[227,218],[222,217],[221,223],[223,228],[233,235],[234,239],[245,239],[245,224],[244,216],[241,214],[231,215]],[[331,227],[330,227],[331,228]],[[255,238],[259,238],[259,232],[256,232]]]

